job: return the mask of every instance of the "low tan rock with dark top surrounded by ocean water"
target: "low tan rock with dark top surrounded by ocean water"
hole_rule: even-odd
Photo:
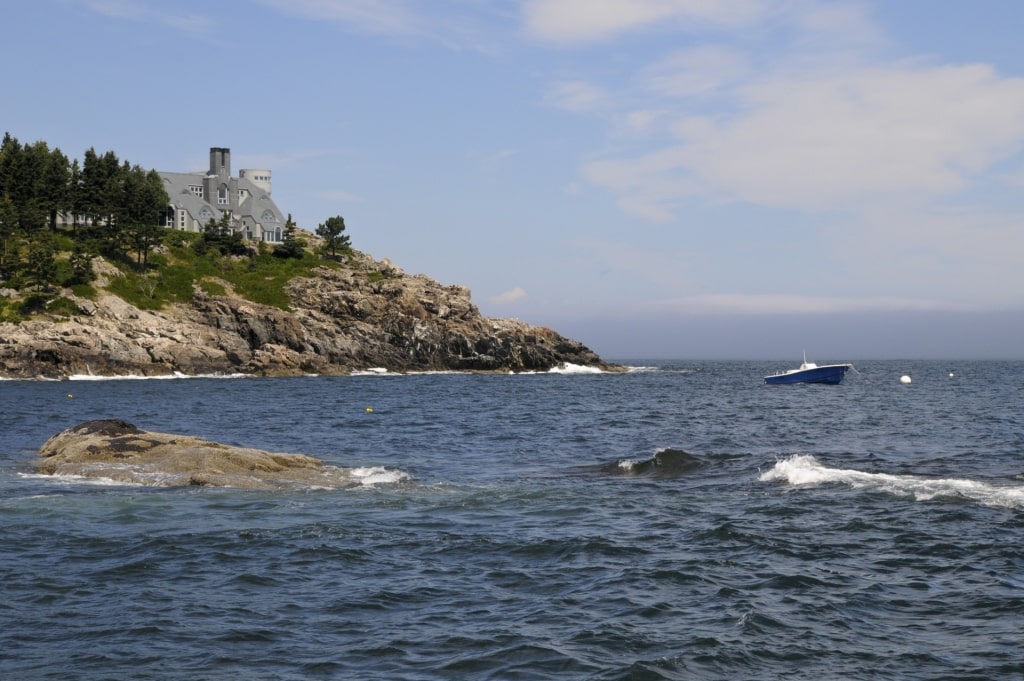
[[[125,421],[86,421],[46,440],[39,471],[158,486],[347,487],[349,471],[301,454],[274,454],[189,435],[146,432]]]

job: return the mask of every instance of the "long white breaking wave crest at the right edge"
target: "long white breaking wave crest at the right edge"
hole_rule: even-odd
[[[793,485],[837,483],[856,490],[873,490],[916,501],[958,497],[984,506],[1024,509],[1024,486],[997,485],[965,478],[930,478],[921,475],[865,473],[849,468],[829,468],[810,455],[798,455],[775,462],[761,474],[762,482]]]

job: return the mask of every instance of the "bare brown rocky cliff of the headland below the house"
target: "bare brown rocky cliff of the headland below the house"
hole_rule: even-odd
[[[108,266],[103,275],[117,272]],[[482,316],[465,287],[409,275],[365,254],[292,280],[289,311],[245,300],[221,284],[225,295],[197,286],[189,303],[159,311],[138,309],[101,287],[95,299],[65,291],[78,313],[0,324],[0,376],[620,369],[550,329]]]

